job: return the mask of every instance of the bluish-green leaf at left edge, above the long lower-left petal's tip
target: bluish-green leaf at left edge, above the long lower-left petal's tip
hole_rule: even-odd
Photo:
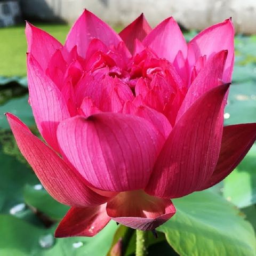
[[[4,129],[9,128],[9,124],[4,116],[4,113],[6,112],[11,112],[12,114],[17,115],[21,121],[28,126],[35,125],[32,110],[28,104],[28,95],[9,100],[4,105],[0,106],[0,128]]]

